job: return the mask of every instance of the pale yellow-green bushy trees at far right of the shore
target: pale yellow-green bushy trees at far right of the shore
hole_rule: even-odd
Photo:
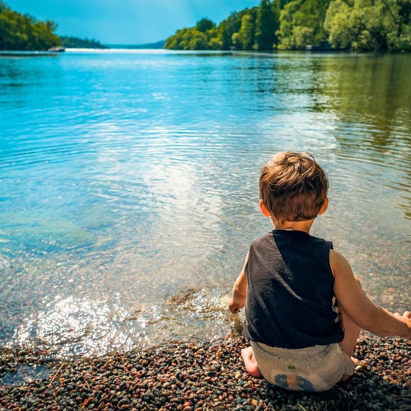
[[[336,48],[411,50],[410,18],[410,0],[334,0],[324,28]]]

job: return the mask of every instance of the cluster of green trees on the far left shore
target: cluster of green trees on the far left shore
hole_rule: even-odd
[[[60,37],[54,34],[56,28],[51,21],[36,21],[0,1],[0,50],[47,50],[59,46]]]

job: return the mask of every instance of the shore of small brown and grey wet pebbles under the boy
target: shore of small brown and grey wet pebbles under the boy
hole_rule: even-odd
[[[3,348],[0,411],[411,408],[410,339],[362,334],[353,377],[322,393],[285,391],[251,377],[240,357],[248,345],[245,337],[176,342],[64,363],[44,351]],[[20,385],[1,385],[4,376],[33,367],[46,373]]]

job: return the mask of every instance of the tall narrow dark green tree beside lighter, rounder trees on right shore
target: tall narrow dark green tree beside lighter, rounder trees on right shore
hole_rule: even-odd
[[[269,0],[262,0],[255,20],[255,48],[271,50],[278,42],[275,34],[278,28],[277,8]]]

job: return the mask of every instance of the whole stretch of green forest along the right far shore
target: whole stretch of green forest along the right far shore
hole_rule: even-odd
[[[180,50],[411,50],[410,0],[262,0],[218,25],[209,19],[170,36]]]

